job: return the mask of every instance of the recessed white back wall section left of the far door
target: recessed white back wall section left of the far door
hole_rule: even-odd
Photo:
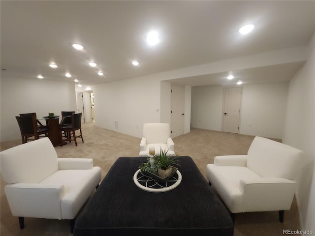
[[[191,127],[221,131],[222,86],[198,86],[191,89]]]

